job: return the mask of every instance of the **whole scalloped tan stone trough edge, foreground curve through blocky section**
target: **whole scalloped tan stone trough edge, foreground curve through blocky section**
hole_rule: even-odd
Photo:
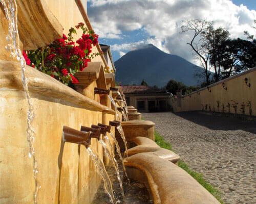
[[[121,123],[130,147],[124,159],[127,176],[144,183],[154,204],[217,204],[219,201],[186,171],[180,157],[155,141],[155,123],[131,120]]]

